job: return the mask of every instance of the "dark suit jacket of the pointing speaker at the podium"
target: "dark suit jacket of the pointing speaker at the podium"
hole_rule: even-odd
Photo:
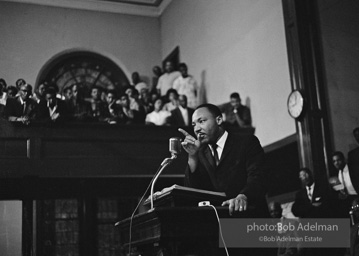
[[[228,199],[244,194],[253,217],[268,217],[264,151],[254,135],[228,134],[217,167],[208,146],[200,149],[199,163],[192,173],[187,166],[189,187],[225,192]]]

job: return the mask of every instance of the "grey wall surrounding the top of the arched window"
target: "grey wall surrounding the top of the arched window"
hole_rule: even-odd
[[[158,18],[0,1],[0,77],[34,85],[50,58],[73,49],[110,58],[129,78],[152,76],[161,61],[159,25]]]

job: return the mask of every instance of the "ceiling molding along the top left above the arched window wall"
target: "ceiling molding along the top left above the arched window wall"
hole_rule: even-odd
[[[52,7],[62,7],[78,10],[99,11],[120,13],[129,15],[139,15],[148,17],[159,17],[172,0],[145,1],[149,4],[143,4],[144,1],[135,0],[115,2],[105,0],[0,0],[2,2],[16,2],[25,4],[45,5]],[[153,3],[151,5],[151,3]],[[157,3],[157,4],[156,4]]]

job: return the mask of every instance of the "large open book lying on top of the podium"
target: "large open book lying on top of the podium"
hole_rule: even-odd
[[[151,196],[149,196],[144,205],[151,204]],[[210,201],[211,204],[219,206],[226,200],[224,192],[215,192],[203,189],[195,189],[183,187],[177,184],[162,189],[153,194],[153,205],[158,206],[198,206],[201,201]]]

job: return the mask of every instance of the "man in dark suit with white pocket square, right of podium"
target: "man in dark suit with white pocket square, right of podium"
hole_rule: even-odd
[[[336,213],[332,207],[335,203],[334,194],[324,182],[315,182],[312,172],[302,168],[299,179],[303,188],[295,196],[292,213],[300,218],[330,218]]]

